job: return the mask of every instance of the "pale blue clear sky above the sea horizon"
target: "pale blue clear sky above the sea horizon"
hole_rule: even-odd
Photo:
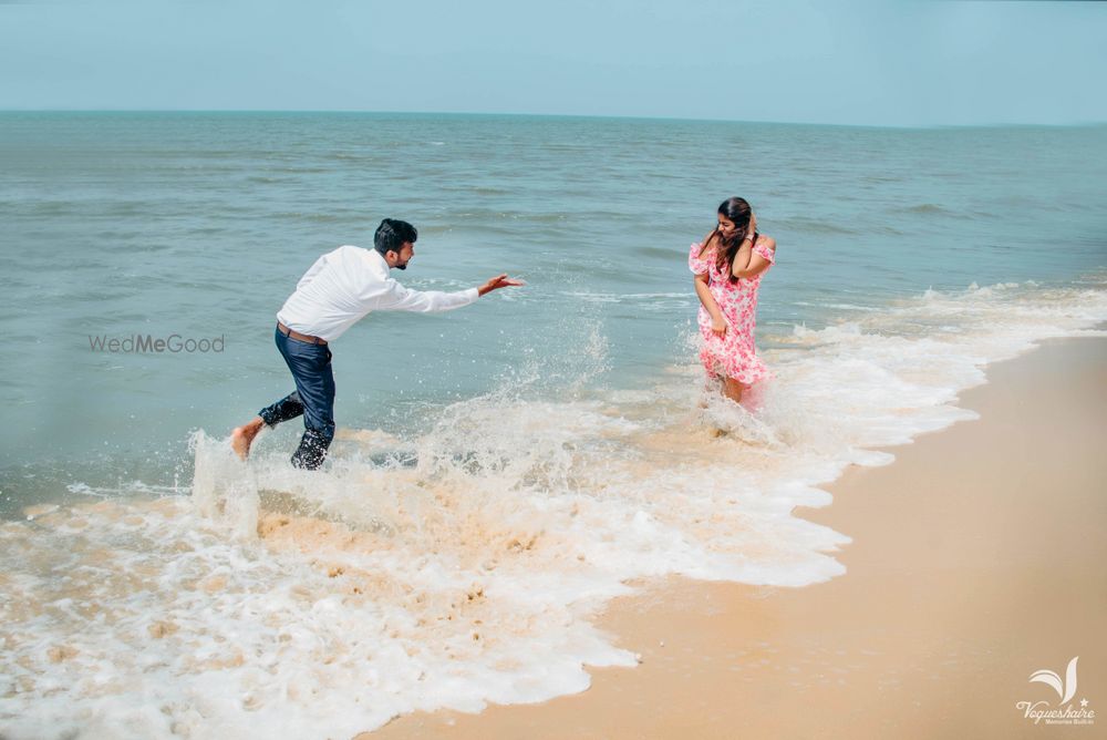
[[[1107,121],[1107,3],[0,0],[0,109]]]

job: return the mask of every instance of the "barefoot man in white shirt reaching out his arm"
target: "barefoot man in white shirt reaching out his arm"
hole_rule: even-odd
[[[296,390],[266,407],[230,434],[242,460],[262,426],[303,414],[303,438],[292,455],[297,467],[323,464],[334,438],[334,376],[330,343],[371,311],[449,311],[520,280],[499,275],[479,288],[457,292],[408,290],[389,277],[407,269],[418,233],[407,222],[385,218],[373,236],[374,249],[339,247],[315,260],[277,312],[277,349],[292,371]]]

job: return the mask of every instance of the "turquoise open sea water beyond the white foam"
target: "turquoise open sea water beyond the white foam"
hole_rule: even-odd
[[[190,430],[290,388],[271,341],[297,278],[384,216],[402,279],[529,287],[375,316],[334,347],[339,424],[400,429],[521,367],[635,388],[686,359],[687,244],[751,201],[780,245],[759,331],[928,288],[1064,284],[1107,263],[1107,127],[888,130],[523,116],[0,114],[2,490],[187,480]],[[596,332],[603,372],[581,353]],[[225,337],[104,354],[90,336]],[[31,476],[31,477],[28,477]],[[11,506],[7,507],[8,510]]]

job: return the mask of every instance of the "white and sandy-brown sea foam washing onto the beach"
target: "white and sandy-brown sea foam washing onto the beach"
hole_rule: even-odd
[[[976,418],[958,397],[987,363],[1107,333],[1107,291],[973,286],[849,316],[765,342],[755,411],[692,363],[644,390],[524,381],[408,438],[342,430],[318,473],[265,434],[244,464],[197,432],[190,495],[4,523],[0,728],[348,738],[581,691],[586,666],[635,664],[590,621],[634,579],[841,575],[849,537],[794,508]]]

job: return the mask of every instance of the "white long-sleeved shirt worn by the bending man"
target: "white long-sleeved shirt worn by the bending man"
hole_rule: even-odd
[[[277,312],[289,329],[334,341],[372,311],[449,311],[479,297],[476,288],[443,292],[410,290],[389,277],[375,249],[343,246],[312,265]]]

